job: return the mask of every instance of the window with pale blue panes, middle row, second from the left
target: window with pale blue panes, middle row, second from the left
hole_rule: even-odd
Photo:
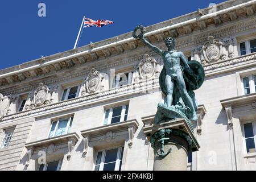
[[[53,121],[51,124],[51,130],[49,131],[48,138],[68,134],[70,132],[72,122],[73,117]]]

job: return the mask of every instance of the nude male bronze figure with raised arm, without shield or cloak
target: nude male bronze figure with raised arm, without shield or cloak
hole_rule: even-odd
[[[134,33],[135,34],[135,33]],[[183,54],[183,52],[175,51],[175,39],[169,37],[164,40],[166,43],[166,46],[168,48],[168,51],[164,51],[162,49],[159,49],[156,46],[153,46],[151,43],[149,43],[144,37],[143,33],[137,35],[137,37],[150,49],[158,53],[158,55],[162,56],[163,62],[164,62],[164,68],[166,69],[166,78],[165,78],[165,84],[166,84],[166,90],[167,90],[167,107],[174,107],[172,106],[173,97],[172,94],[174,92],[174,84],[179,89],[179,92],[181,94],[181,97],[183,98],[184,102],[187,104],[189,109],[192,111],[192,120],[197,119],[195,108],[193,107],[193,101],[192,98],[189,96],[185,81],[183,78],[183,71],[181,69],[181,61],[185,67],[185,69],[189,70],[189,65],[187,63],[187,60]],[[134,37],[136,38],[136,37]]]

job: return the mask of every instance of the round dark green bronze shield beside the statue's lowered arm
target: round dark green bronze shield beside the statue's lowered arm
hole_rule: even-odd
[[[200,88],[204,82],[204,68],[199,61],[191,60],[188,61],[189,67],[192,69],[185,70],[186,77],[188,78],[188,84],[192,90]]]

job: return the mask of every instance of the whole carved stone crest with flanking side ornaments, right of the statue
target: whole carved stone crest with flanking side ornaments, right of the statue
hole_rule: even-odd
[[[218,60],[231,59],[234,57],[233,44],[232,38],[219,40],[214,39],[214,36],[208,36],[203,46],[197,46],[194,49],[194,59],[200,60],[203,65]]]

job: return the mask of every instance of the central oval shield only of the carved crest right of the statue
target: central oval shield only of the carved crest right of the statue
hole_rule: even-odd
[[[209,63],[211,61],[217,61],[222,55],[222,46],[224,43],[220,42],[218,39],[214,39],[213,36],[207,38],[207,42],[203,46],[203,55],[205,60]]]

